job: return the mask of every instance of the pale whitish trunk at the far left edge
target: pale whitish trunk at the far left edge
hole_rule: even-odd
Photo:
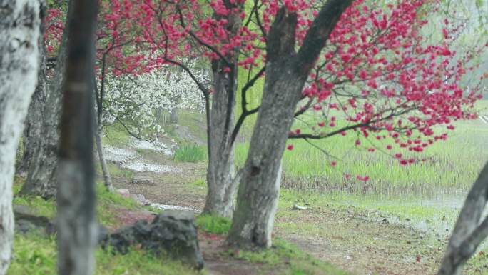
[[[14,243],[15,156],[36,89],[40,25],[39,1],[0,0],[0,275]]]

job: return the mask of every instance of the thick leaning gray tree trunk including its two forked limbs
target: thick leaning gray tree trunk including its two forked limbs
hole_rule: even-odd
[[[228,243],[243,249],[270,247],[280,190],[281,159],[295,109],[315,60],[350,1],[322,6],[295,52],[297,15],[280,9],[267,37],[263,100],[250,140]]]

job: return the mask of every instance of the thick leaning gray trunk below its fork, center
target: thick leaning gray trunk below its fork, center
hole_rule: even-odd
[[[266,69],[265,91],[243,167],[229,244],[270,247],[280,190],[281,158],[305,79],[280,64]]]

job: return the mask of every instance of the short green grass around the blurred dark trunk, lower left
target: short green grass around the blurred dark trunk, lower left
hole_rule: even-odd
[[[16,178],[14,192],[17,194],[23,184],[23,179]],[[121,226],[116,214],[122,209],[141,210],[136,201],[106,191],[103,184],[97,184],[97,214],[98,219],[105,226]],[[35,196],[15,196],[14,204],[29,206],[35,214],[56,216],[56,201],[45,201]],[[8,275],[50,275],[56,273],[56,236],[46,236],[39,232],[16,234],[14,241],[14,259],[11,261]],[[112,254],[109,251],[97,249],[96,275],[123,274],[202,274],[190,269],[178,261],[169,261],[164,257],[156,257],[143,250],[134,249],[126,255]],[[205,274],[205,273],[203,273]]]

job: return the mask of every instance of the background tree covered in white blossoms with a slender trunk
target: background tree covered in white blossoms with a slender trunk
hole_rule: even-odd
[[[195,66],[194,62],[192,66]],[[200,83],[209,83],[205,71],[195,71],[194,76]],[[101,80],[97,88],[96,144],[105,185],[112,190],[101,141],[104,126],[118,122],[131,136],[153,141],[163,131],[158,116],[161,111],[171,113],[176,109],[192,109],[203,112],[205,99],[185,71],[171,70],[169,66],[136,76],[109,73]]]

